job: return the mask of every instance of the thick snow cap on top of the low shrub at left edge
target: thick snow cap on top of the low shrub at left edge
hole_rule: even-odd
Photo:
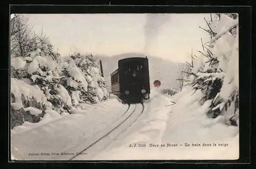
[[[11,103],[11,106],[14,110],[18,110],[22,107],[22,94],[24,94],[25,98],[32,99],[32,97],[36,98],[36,101],[39,103],[46,103],[47,99],[45,94],[39,89],[37,85],[29,85],[21,80],[11,78],[11,93],[14,94],[15,103]]]

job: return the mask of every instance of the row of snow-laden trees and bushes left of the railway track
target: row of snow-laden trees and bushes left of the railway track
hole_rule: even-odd
[[[11,17],[12,127],[36,123],[47,111],[67,114],[79,103],[106,99],[105,81],[93,55],[60,57],[42,32],[30,35],[26,21],[24,15]]]

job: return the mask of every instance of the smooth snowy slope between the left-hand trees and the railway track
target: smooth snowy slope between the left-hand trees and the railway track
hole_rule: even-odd
[[[68,160],[72,156],[52,153],[80,152],[126,109],[127,105],[114,97],[97,105],[80,104],[69,115],[55,113],[58,116],[45,116],[38,123],[25,122],[11,130],[12,156],[18,160]]]

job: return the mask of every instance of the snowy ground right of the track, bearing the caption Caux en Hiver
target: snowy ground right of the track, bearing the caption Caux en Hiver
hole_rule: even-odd
[[[238,159],[238,127],[225,125],[223,116],[208,118],[205,112],[209,102],[201,106],[198,100],[202,94],[194,92],[188,87],[176,94],[176,98],[157,94],[145,104],[144,116],[94,159]],[[171,105],[170,101],[178,104]],[[129,147],[131,143],[136,147]]]

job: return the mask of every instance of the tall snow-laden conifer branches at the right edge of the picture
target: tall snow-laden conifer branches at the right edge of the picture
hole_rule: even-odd
[[[219,20],[207,22],[211,40],[195,59],[188,77],[195,90],[203,93],[201,103],[211,101],[206,113],[215,118],[223,115],[227,124],[238,125],[239,119],[239,44],[238,16],[218,15]],[[236,19],[234,19],[236,18]]]

